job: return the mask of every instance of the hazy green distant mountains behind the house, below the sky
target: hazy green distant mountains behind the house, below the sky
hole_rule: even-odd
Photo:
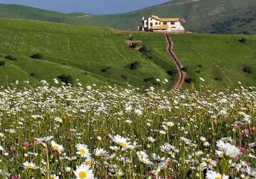
[[[199,33],[256,34],[255,0],[173,0],[130,13],[92,15],[56,13],[21,5],[0,4],[0,17],[44,20],[136,30],[142,16],[180,17],[186,30]]]

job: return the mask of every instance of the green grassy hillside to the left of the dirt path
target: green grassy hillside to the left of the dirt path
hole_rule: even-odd
[[[0,66],[1,84],[28,78],[53,83],[53,78],[64,74],[83,84],[119,86],[149,86],[146,78],[167,78],[169,88],[176,78],[166,72],[176,68],[165,51],[163,34],[141,36],[142,46],[150,49],[145,55],[126,44],[130,34],[105,28],[13,19],[0,19],[0,24],[0,61],[5,63]],[[30,58],[38,53],[43,55],[41,59]],[[16,60],[6,59],[7,55]],[[136,69],[126,67],[136,61]]]

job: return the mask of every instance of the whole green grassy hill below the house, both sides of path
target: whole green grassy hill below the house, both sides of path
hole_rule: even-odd
[[[169,82],[160,84],[170,89],[177,78],[163,34],[34,20],[0,19],[0,24],[1,85],[28,79],[53,84],[53,78],[71,75],[74,84],[79,79],[82,84],[137,87],[166,78]],[[140,40],[143,50],[130,48],[129,39]],[[191,82],[197,89],[200,83],[212,89],[235,88],[237,81],[256,86],[256,36],[172,34],[172,39],[174,52],[185,67],[185,88]],[[38,53],[40,59],[30,58]]]

